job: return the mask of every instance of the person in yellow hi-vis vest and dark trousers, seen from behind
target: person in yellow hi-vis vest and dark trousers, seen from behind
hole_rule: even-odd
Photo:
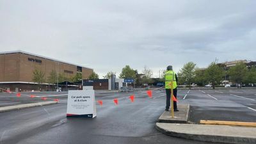
[[[167,67],[167,71],[164,74],[165,81],[165,90],[166,90],[166,107],[165,110],[168,111],[170,108],[170,99],[171,99],[171,88],[173,86],[173,95],[177,99],[177,75],[172,70],[172,65]],[[172,85],[173,84],[173,85]],[[177,108],[177,102],[173,101],[173,109],[174,111],[179,111]]]

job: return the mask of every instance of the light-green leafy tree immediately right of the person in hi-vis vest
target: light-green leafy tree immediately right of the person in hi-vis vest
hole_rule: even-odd
[[[195,78],[195,69],[196,69],[196,64],[190,61],[186,63],[179,72],[180,77],[189,84],[189,89],[191,89],[190,84]]]

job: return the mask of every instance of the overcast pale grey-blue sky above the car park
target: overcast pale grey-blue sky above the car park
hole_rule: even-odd
[[[26,51],[95,70],[256,61],[256,1],[0,0],[0,52]]]

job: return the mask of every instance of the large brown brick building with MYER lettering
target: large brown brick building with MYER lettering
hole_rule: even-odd
[[[0,88],[10,90],[36,90],[38,83],[33,81],[33,71],[38,69],[45,74],[45,79],[52,71],[65,77],[74,77],[77,73],[82,79],[88,79],[93,69],[65,61],[54,60],[24,51],[0,52]],[[51,83],[42,84],[44,89]]]

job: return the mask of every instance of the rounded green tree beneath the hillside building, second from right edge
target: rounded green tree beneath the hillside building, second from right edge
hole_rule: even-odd
[[[237,63],[234,67],[230,67],[228,75],[230,80],[234,83],[242,83],[245,79],[246,72],[248,71],[246,65],[243,62]]]

